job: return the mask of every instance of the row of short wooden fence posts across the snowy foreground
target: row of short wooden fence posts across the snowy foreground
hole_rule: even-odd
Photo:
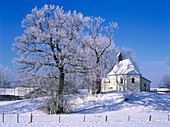
[[[170,121],[170,115],[80,115],[80,114],[63,114],[63,115],[45,115],[45,114],[4,114],[2,113],[1,123],[33,123],[33,122],[69,122],[70,119],[74,122],[165,122]]]

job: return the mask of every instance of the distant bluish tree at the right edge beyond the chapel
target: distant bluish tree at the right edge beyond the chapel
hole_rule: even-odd
[[[170,88],[170,74],[164,75],[160,84],[162,87]]]

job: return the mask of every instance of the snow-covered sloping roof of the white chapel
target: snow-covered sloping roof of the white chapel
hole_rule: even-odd
[[[140,75],[139,71],[134,67],[130,59],[125,59],[120,61],[116,64],[113,70],[108,75],[115,75],[115,74],[138,74]]]

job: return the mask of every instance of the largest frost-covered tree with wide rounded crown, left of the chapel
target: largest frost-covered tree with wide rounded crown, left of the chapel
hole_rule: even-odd
[[[66,12],[59,6],[35,7],[22,21],[24,33],[13,44],[20,56],[15,59],[20,72],[35,75],[43,67],[57,69],[58,112],[63,112],[65,74],[80,69],[79,45],[88,20],[81,13]]]

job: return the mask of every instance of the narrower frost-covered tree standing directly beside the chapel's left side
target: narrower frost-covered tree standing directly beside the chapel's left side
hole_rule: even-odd
[[[113,32],[118,28],[118,24],[109,23],[109,26],[104,27],[104,21],[101,17],[92,17],[88,22],[88,32],[83,40],[86,50],[87,68],[90,68],[90,74],[87,75],[90,75],[92,79],[93,94],[100,93],[103,69],[106,68],[107,60],[113,55],[115,50]],[[111,61],[111,59],[109,60]]]

